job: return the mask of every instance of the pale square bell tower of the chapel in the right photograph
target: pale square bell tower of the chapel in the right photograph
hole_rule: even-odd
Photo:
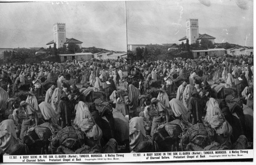
[[[198,19],[187,19],[186,21],[186,35],[189,41],[189,44],[193,44],[197,41],[199,37],[199,25]]]

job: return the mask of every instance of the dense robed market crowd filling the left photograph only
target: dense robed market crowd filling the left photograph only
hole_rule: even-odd
[[[0,154],[129,152],[125,63],[0,66]]]

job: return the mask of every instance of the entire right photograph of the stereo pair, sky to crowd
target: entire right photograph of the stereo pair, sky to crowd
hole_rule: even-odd
[[[129,1],[126,20],[130,151],[253,149],[253,1]]]

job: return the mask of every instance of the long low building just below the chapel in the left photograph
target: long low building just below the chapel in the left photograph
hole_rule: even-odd
[[[91,60],[94,55],[91,52],[81,52],[75,54],[59,54],[60,62],[65,63],[67,60]]]

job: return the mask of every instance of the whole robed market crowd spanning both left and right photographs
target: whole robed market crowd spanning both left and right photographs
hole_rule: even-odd
[[[0,71],[1,155],[252,148],[252,57]]]

